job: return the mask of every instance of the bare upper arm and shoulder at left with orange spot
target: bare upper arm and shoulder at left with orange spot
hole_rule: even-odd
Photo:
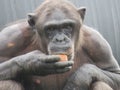
[[[11,25],[0,31],[0,57],[13,57],[29,45],[34,32],[23,24]]]

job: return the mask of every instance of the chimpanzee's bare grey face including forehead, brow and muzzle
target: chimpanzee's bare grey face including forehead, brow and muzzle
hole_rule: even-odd
[[[65,54],[68,60],[74,58],[74,34],[76,21],[67,16],[62,10],[56,9],[46,17],[43,23],[42,32],[49,55]],[[39,22],[36,27],[39,27]],[[38,30],[40,30],[38,28]]]

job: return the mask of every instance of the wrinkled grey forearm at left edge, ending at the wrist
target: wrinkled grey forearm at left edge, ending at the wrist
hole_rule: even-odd
[[[0,64],[0,80],[15,78],[22,71],[22,68],[14,62],[15,59],[19,59],[19,57],[12,58]]]

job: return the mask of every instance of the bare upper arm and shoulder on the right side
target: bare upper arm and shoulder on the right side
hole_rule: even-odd
[[[89,35],[85,37],[84,49],[93,63],[103,70],[120,73],[118,62],[113,56],[109,43],[94,29],[88,27],[87,29]]]

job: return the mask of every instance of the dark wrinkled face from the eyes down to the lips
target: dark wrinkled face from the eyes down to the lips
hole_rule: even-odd
[[[50,40],[48,44],[49,54],[65,54],[70,59],[74,52],[74,42],[72,41],[73,26],[62,23],[61,27],[50,26],[45,29],[46,37]]]

